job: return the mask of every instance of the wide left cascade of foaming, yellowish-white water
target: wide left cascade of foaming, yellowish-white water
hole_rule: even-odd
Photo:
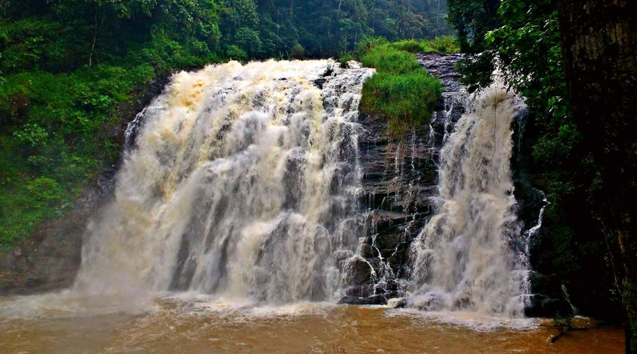
[[[74,290],[333,299],[353,257],[372,69],[229,62],[176,74],[130,126]],[[342,261],[342,259],[340,259]]]

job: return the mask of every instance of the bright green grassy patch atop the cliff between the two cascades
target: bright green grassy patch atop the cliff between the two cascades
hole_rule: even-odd
[[[453,41],[405,40],[388,43],[382,39],[363,42],[358,55],[365,67],[373,67],[377,74],[365,81],[360,109],[363,113],[383,115],[388,120],[389,135],[398,137],[416,125],[429,122],[442,84],[427,74],[414,52],[433,50],[433,42],[444,52],[455,50]]]

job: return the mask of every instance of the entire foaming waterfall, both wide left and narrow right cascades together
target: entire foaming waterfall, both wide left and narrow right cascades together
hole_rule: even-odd
[[[401,281],[412,307],[522,316],[528,251],[510,161],[524,103],[493,86],[445,125],[440,155],[432,152],[437,213],[406,248],[411,278],[402,280],[381,256],[374,270],[365,253],[357,108],[373,73],[323,60],[176,74],[130,124],[114,198],[88,225],[74,290],[356,303],[377,283]],[[357,284],[373,289],[355,295]]]

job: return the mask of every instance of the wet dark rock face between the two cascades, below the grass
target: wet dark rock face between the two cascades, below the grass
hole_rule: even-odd
[[[364,115],[360,123],[365,132],[359,137],[364,173],[361,199],[365,215],[365,241],[360,256],[374,268],[375,279],[350,289],[340,302],[348,304],[386,304],[403,297],[409,277],[409,246],[432,215],[432,197],[437,193],[437,151],[444,135],[451,132],[464,113],[464,92],[454,71],[457,55],[420,54],[421,64],[439,76],[445,92],[436,104],[431,126],[419,127],[391,139],[386,122],[378,116]],[[457,107],[459,105],[459,107]],[[369,285],[374,291],[369,291]]]

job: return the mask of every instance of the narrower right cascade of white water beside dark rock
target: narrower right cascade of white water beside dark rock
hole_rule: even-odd
[[[471,97],[440,152],[437,212],[411,245],[413,307],[524,315],[526,238],[512,194],[511,122],[524,107],[491,86]]]

